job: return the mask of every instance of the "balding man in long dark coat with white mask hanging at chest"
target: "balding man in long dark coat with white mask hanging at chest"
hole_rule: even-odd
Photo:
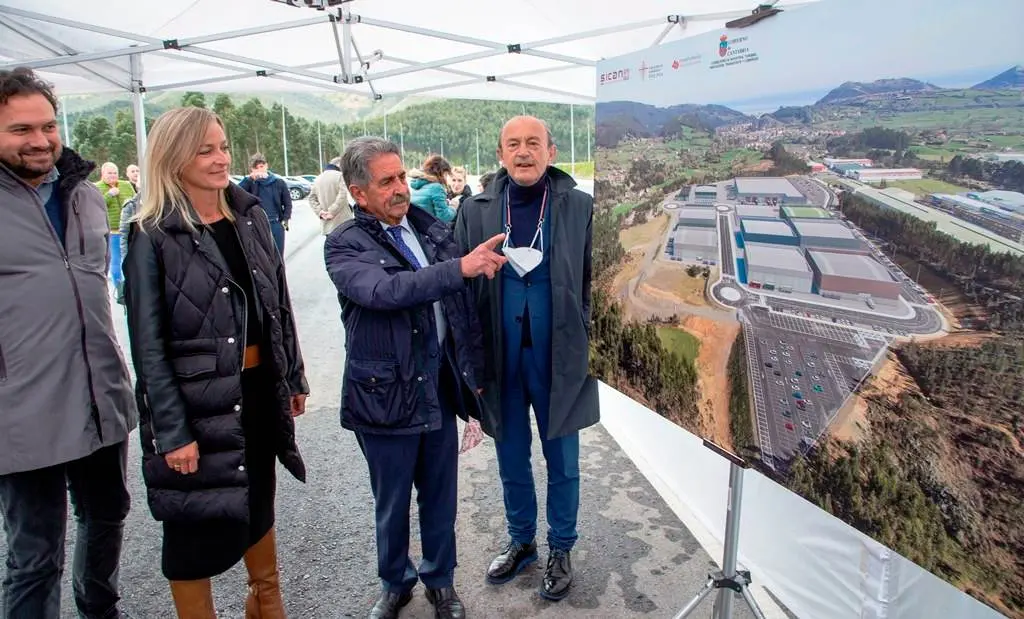
[[[484,338],[482,427],[495,438],[511,540],[487,569],[508,582],[537,560],[537,493],[529,408],[548,465],[548,546],[541,594],[561,600],[572,583],[570,551],[580,507],[580,429],[597,423],[589,374],[593,199],[551,166],[543,121],[521,116],[502,129],[503,169],[490,189],[465,200],[456,221],[463,251],[504,231],[501,277],[474,281]]]

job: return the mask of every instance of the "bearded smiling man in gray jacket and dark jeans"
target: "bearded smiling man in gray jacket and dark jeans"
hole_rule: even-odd
[[[0,71],[0,513],[4,619],[57,619],[71,491],[78,615],[121,617],[118,565],[137,423],[106,284],[110,224],[60,143],[57,102],[31,71]]]

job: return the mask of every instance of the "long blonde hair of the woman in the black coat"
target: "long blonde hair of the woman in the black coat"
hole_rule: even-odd
[[[219,116],[189,106],[165,112],[153,124],[146,138],[142,195],[135,216],[140,228],[154,230],[177,211],[185,225],[195,230],[198,217],[181,184],[181,171],[199,154],[210,123],[217,123],[224,129]],[[220,210],[225,217],[233,219],[223,193]]]

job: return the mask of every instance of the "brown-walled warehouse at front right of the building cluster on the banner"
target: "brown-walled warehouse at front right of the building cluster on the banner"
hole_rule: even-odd
[[[900,284],[868,255],[808,250],[817,291],[831,298],[899,299]]]

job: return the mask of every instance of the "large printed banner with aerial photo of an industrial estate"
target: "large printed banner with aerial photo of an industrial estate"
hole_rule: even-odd
[[[595,183],[625,250],[603,285],[684,367],[676,398],[628,364],[623,390],[1012,617],[1021,24],[825,0],[604,60]]]

